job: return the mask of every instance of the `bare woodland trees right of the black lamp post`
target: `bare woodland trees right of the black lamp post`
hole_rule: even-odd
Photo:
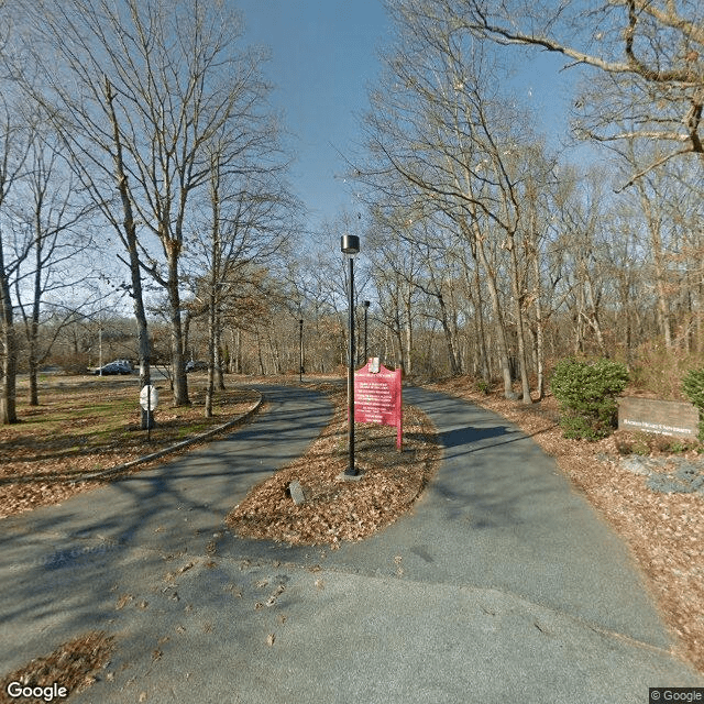
[[[424,318],[450,373],[498,376],[507,397],[516,383],[526,403],[562,355],[636,364],[660,344],[701,360],[701,6],[387,7],[396,40],[354,174],[405,365],[422,359]],[[591,165],[536,129],[507,70],[516,47],[581,72],[572,132],[603,147]]]

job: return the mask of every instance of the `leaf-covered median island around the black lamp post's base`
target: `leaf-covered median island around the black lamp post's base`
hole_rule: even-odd
[[[404,405],[403,452],[393,427],[358,422],[355,465],[363,476],[340,479],[348,466],[346,395],[333,385],[321,391],[334,405],[332,420],[306,454],[254,486],[228,515],[238,536],[334,549],[393,524],[436,473],[441,457],[436,429],[421,410]]]

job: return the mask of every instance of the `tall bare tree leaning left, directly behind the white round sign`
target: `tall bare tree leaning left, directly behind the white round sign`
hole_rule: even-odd
[[[24,44],[36,37],[45,50],[33,54],[31,70],[18,72],[26,95],[40,105],[64,142],[70,167],[127,251],[130,283],[124,285],[134,301],[138,328],[140,385],[151,382],[151,350],[138,241],[135,206],[129,186],[123,134],[114,106],[117,92],[99,61],[101,55],[77,30],[72,8],[53,3],[24,7]],[[75,11],[76,8],[73,8]],[[79,35],[75,43],[66,42]],[[53,48],[53,52],[50,51]],[[28,50],[30,52],[31,50]],[[96,55],[97,54],[97,55]],[[25,65],[28,62],[24,62]],[[109,239],[108,239],[109,241]],[[124,262],[117,253],[118,258]],[[142,428],[153,424],[142,413]]]

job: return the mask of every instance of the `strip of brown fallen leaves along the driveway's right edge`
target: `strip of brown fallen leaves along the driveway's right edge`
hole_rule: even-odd
[[[473,386],[470,378],[432,385],[504,416],[556,459],[628,544],[667,623],[680,638],[682,654],[704,672],[704,497],[654,493],[646,477],[624,470],[617,461],[618,446],[638,438],[617,435],[600,442],[563,438],[551,396],[525,406],[476,393]],[[651,437],[648,449],[662,454],[658,447],[664,446]]]

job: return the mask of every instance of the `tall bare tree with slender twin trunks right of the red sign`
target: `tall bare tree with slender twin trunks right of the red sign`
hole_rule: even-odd
[[[529,129],[496,89],[496,68],[450,22],[426,23],[403,4],[396,10],[399,47],[387,62],[384,87],[372,95],[367,121],[378,166],[364,169],[363,178],[383,190],[388,173],[396,172],[415,190],[419,208],[454,222],[486,278],[505,394],[512,396],[508,311],[499,282],[508,273],[522,398],[530,403],[517,250],[518,155]]]

